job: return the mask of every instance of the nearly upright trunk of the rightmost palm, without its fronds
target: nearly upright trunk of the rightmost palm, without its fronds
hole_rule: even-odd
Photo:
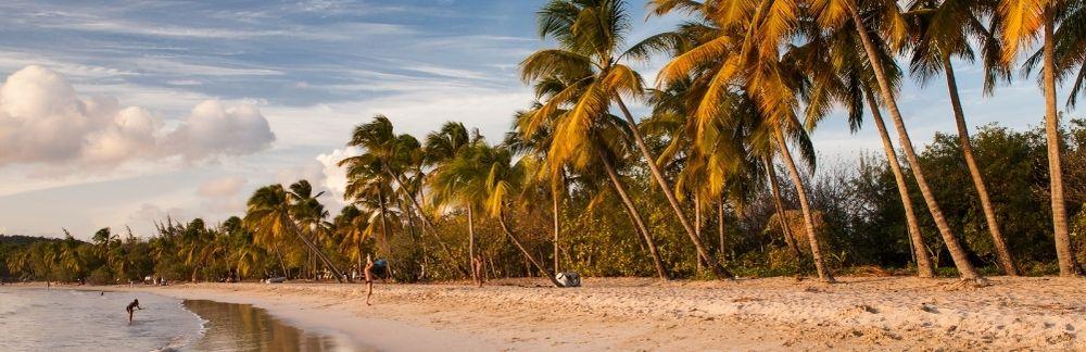
[[[1048,141],[1048,177],[1052,197],[1052,229],[1056,232],[1056,255],[1060,265],[1060,276],[1075,277],[1074,253],[1071,252],[1071,235],[1068,231],[1068,210],[1063,201],[1063,165],[1060,161],[1060,116],[1056,110],[1056,26],[1051,14],[1045,14],[1045,138]]]

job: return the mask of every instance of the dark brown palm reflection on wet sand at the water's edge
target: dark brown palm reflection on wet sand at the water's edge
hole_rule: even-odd
[[[184,304],[207,320],[204,336],[190,347],[194,351],[364,351],[343,336],[305,331],[249,304]]]

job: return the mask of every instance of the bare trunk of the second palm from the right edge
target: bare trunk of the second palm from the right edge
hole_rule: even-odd
[[[981,175],[981,167],[973,156],[973,146],[969,138],[969,127],[965,125],[965,113],[961,108],[961,98],[958,96],[958,79],[955,77],[954,64],[950,58],[943,59],[943,71],[947,76],[947,89],[950,92],[950,105],[954,108],[955,125],[958,127],[958,142],[961,144],[961,153],[965,156],[965,165],[969,166],[969,175],[973,178],[973,187],[981,199],[981,208],[984,209],[984,219],[988,225],[988,232],[992,234],[992,243],[996,247],[996,257],[1003,274],[1018,276],[1018,267],[1014,265],[1014,257],[1007,248],[1007,241],[999,229],[999,221],[996,219],[996,209],[992,206],[992,199],[988,198],[988,187],[984,184],[984,176]]]

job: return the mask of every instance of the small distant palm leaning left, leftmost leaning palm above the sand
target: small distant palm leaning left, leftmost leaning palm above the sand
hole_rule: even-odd
[[[343,273],[308,238],[302,235],[292,217],[294,204],[282,185],[265,186],[249,199],[243,219],[245,228],[253,232],[253,241],[265,247],[277,246],[287,238],[296,238],[324,262],[336,280],[343,282]]]

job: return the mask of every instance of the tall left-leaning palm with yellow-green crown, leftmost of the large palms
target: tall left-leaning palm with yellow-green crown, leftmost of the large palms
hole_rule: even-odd
[[[674,191],[622,100],[622,96],[639,98],[643,86],[641,76],[622,62],[646,58],[644,49],[652,47],[646,45],[621,50],[622,40],[631,27],[626,3],[621,0],[551,0],[538,14],[540,36],[553,38],[559,48],[540,50],[525,59],[520,64],[521,78],[526,81],[558,76],[577,79],[540,108],[542,115],[551,116],[559,106],[571,105],[569,112],[563,114],[565,117],[555,124],[557,142],[551,147],[550,158],[560,161],[572,159],[576,150],[591,142],[590,126],[593,121],[607,118],[611,104],[616,104],[653,179],[659,185],[698,255],[718,278],[729,278],[686,219]],[[534,129],[529,127],[528,131]]]

